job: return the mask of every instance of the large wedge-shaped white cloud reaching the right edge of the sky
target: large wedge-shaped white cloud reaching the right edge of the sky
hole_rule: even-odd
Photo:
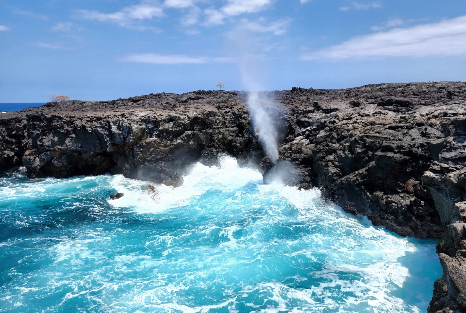
[[[466,15],[438,23],[358,36],[339,45],[301,55],[302,60],[384,57],[466,56]]]

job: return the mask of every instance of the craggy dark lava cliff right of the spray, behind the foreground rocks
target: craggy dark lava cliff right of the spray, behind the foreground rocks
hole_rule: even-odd
[[[295,88],[285,98],[290,105],[305,96],[318,104],[294,105],[288,119],[294,132],[281,157],[297,167],[299,186],[322,187],[346,211],[404,236],[439,237],[452,205],[466,200],[459,173],[465,165],[465,87]]]

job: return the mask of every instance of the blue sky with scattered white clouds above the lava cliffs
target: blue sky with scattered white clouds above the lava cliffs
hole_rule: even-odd
[[[0,102],[466,81],[465,0],[0,0]]]

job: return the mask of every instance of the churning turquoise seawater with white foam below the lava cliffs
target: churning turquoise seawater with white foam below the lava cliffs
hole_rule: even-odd
[[[121,175],[4,173],[0,312],[425,311],[435,240],[221,164],[157,193]]]

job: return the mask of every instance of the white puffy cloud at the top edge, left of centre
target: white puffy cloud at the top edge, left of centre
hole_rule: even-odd
[[[121,11],[114,13],[101,13],[99,11],[80,10],[83,18],[99,20],[101,22],[113,22],[120,26],[130,27],[132,20],[151,20],[153,17],[164,16],[163,9],[155,2],[141,2],[138,5],[123,7]],[[130,27],[131,28],[131,27]],[[141,29],[146,29],[145,27]]]

